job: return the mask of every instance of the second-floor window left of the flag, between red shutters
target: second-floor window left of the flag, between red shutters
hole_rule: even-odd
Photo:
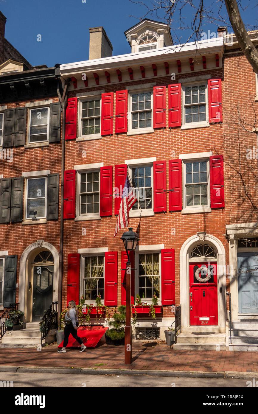
[[[78,172],[77,217],[99,217],[99,175],[99,170]]]

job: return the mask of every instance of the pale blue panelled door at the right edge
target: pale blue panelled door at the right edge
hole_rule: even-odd
[[[258,253],[238,253],[239,313],[258,313]]]

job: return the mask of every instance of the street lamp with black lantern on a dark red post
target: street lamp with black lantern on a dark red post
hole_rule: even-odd
[[[127,253],[126,263],[126,315],[125,315],[125,364],[130,365],[132,363],[132,327],[131,327],[131,262],[129,252],[136,249],[137,243],[140,240],[137,233],[129,228],[125,231],[121,237],[125,245],[125,251]],[[124,269],[123,269],[124,270]]]

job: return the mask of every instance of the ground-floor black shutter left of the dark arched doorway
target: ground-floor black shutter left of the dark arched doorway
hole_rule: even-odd
[[[3,295],[4,308],[7,308],[11,303],[15,303],[16,276],[17,276],[17,255],[5,256],[4,295]]]

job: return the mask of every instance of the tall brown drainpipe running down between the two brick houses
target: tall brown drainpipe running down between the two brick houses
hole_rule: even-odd
[[[65,173],[65,110],[67,106],[67,94],[69,79],[62,79],[60,64],[55,65],[55,77],[58,82],[57,94],[61,104],[62,119],[62,161],[61,161],[61,213],[60,213],[60,244],[59,244],[59,272],[58,272],[58,315],[62,311],[62,288],[63,288],[63,246],[64,246],[64,173]],[[63,82],[62,82],[63,80]],[[63,88],[64,84],[64,88]],[[62,93],[62,95],[61,95]],[[59,322],[59,321],[58,321]]]

